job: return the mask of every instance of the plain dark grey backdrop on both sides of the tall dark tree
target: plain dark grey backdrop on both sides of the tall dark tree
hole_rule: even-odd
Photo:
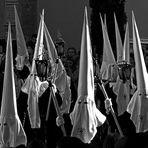
[[[45,22],[53,40],[60,30],[66,48],[74,46],[80,49],[84,7],[88,0],[39,0],[39,12],[45,9]],[[141,38],[148,37],[148,1],[126,0],[126,12],[131,36],[131,11],[135,13]],[[88,7],[89,8],[89,7]]]

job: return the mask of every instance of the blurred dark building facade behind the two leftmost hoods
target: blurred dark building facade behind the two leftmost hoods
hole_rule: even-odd
[[[6,39],[8,22],[11,22],[12,37],[15,39],[14,5],[26,40],[37,33],[38,0],[0,0],[0,39]]]

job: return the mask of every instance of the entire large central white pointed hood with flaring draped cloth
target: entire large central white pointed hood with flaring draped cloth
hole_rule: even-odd
[[[96,128],[106,120],[94,102],[92,47],[86,7],[81,40],[78,99],[70,117],[73,124],[71,136],[81,139],[84,143],[91,142],[97,132]]]

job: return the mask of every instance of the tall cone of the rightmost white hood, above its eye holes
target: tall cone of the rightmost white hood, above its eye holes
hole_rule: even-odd
[[[133,24],[133,50],[134,50],[135,64],[136,64],[135,66],[136,66],[137,87],[139,90],[145,91],[148,90],[148,83],[147,83],[148,74],[142,52],[140,37],[133,13],[132,13],[132,24]]]

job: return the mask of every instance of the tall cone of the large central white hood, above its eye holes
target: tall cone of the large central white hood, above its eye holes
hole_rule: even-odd
[[[82,50],[80,55],[78,96],[89,96],[90,98],[94,98],[92,49],[90,43],[86,8],[81,49]]]

